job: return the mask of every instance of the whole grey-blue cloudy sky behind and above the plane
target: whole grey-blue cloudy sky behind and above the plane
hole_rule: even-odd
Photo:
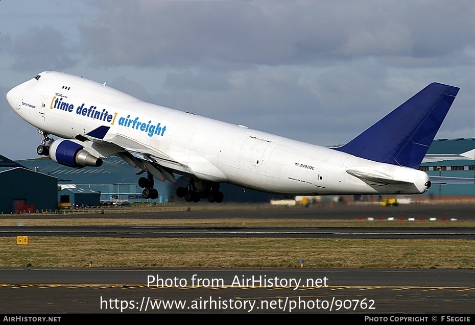
[[[475,137],[473,1],[0,1],[0,155],[41,136],[5,95],[44,70],[314,144],[343,144],[431,82],[436,138]]]

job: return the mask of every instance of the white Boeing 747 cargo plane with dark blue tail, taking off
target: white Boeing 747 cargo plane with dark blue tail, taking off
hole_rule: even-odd
[[[222,202],[221,183],[289,195],[420,194],[419,167],[459,88],[432,83],[341,147],[327,148],[139,99],[82,77],[44,71],[7,93],[38,128],[39,155],[82,168],[118,156],[139,168],[144,198],[155,178],[186,187],[186,201]],[[55,135],[62,139],[53,140]]]

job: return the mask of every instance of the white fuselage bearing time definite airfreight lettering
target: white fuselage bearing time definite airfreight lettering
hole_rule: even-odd
[[[39,80],[13,88],[7,98],[15,113],[47,133],[75,139],[107,126],[104,143],[203,181],[300,195],[415,194],[425,192],[429,181],[419,170],[145,103],[60,72],[43,72]],[[100,142],[86,149],[99,158],[116,154],[110,147],[101,151]],[[372,183],[347,170],[395,182]]]

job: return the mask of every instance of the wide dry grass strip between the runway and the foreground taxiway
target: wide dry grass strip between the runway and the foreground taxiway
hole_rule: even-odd
[[[474,268],[473,240],[0,238],[2,267]]]

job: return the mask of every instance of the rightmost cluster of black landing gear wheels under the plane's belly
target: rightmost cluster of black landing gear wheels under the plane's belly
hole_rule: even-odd
[[[219,183],[208,183],[191,179],[187,187],[178,187],[176,194],[184,197],[186,202],[199,202],[207,198],[209,202],[221,203],[224,199],[223,192],[219,191]]]

